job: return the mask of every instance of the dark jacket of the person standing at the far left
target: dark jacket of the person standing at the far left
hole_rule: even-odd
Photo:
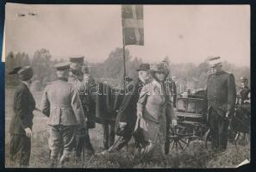
[[[35,109],[34,97],[24,83],[19,83],[15,95],[13,111],[14,115],[10,121],[9,132],[11,134],[24,134],[24,129],[33,126],[33,111]]]

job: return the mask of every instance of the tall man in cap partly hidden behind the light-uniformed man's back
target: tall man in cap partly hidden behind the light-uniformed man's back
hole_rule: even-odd
[[[75,88],[78,92],[78,95],[80,97],[80,100],[82,102],[84,112],[88,113],[90,111],[91,102],[88,102],[88,101],[90,101],[90,99],[88,97],[88,93],[86,94],[86,91],[88,91],[89,88],[88,87],[86,88],[86,84],[84,84],[84,80],[85,81],[88,80],[88,82],[89,82],[89,80],[91,80],[91,77],[88,77],[88,74],[86,74],[86,71],[88,71],[88,69],[84,68],[84,57],[70,58],[70,62],[71,62],[71,64],[70,64],[70,73],[69,73],[69,77],[68,77],[68,82],[72,83],[75,86]],[[84,75],[83,71],[84,71],[85,75]],[[92,81],[90,81],[90,82],[92,82]],[[90,89],[89,89],[89,91],[90,91]],[[93,113],[91,113],[91,114],[93,114]],[[89,126],[94,127],[95,124],[93,123],[91,118],[90,118],[90,123],[91,124]],[[77,144],[76,144],[77,159],[79,159],[81,157],[83,146],[89,154],[95,153],[93,146],[91,145],[88,127],[87,127],[86,132],[81,130],[81,128],[78,128],[76,142],[77,142]]]

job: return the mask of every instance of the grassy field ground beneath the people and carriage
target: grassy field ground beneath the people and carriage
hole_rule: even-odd
[[[9,166],[9,120],[12,115],[14,89],[5,90],[5,165]],[[33,92],[36,106],[40,107],[41,92]],[[47,144],[47,117],[34,114],[31,167],[47,168],[49,165],[49,150]],[[103,130],[97,125],[90,131],[91,143],[97,152],[103,151]],[[194,141],[185,151],[172,151],[167,157],[167,166],[164,163],[140,163],[134,165],[132,156],[134,152],[133,142],[128,149],[120,152],[105,154],[103,156],[86,157],[84,168],[233,168],[245,159],[250,160],[250,146],[234,146],[228,144],[228,150],[222,154],[205,149],[203,142]],[[66,164],[66,168],[81,168],[81,163],[75,163],[72,158]]]

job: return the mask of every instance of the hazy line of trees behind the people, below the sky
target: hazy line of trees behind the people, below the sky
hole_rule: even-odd
[[[109,53],[109,56],[102,63],[90,63],[90,70],[92,77],[100,80],[114,79],[117,83],[122,83],[123,76],[123,51],[122,48],[117,47]],[[133,79],[137,77],[137,71],[141,63],[147,63],[142,58],[132,57],[128,49],[126,53],[126,71],[127,76]],[[86,57],[85,57],[86,58]],[[66,58],[65,60],[68,60]],[[174,77],[178,86],[178,92],[185,89],[204,88],[209,71],[209,64],[207,60],[203,60],[201,64],[193,63],[172,63],[172,59],[168,56],[159,58],[159,62],[165,60],[171,69],[171,76]],[[34,70],[33,80],[38,81],[44,87],[47,83],[52,82],[55,78],[54,64],[64,61],[64,59],[53,58],[49,50],[42,48],[34,52],[33,57],[29,57],[26,52],[9,52],[5,60],[5,83],[7,86],[16,85],[16,76],[9,76],[8,71],[17,66],[31,65]],[[237,86],[240,85],[239,78],[241,76],[249,77],[250,83],[250,69],[247,66],[239,67],[232,63],[224,61],[223,69],[234,74]]]

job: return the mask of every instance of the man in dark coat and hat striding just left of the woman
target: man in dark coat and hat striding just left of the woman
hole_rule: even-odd
[[[116,117],[116,134],[122,136],[122,142],[116,146],[116,151],[120,151],[132,138],[136,122],[136,104],[140,96],[140,89],[148,82],[149,68],[149,64],[140,64],[137,69],[138,80],[128,84]]]

